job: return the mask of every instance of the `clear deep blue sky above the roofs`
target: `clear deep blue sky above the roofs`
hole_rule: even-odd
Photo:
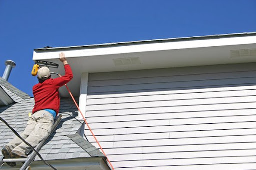
[[[32,96],[33,50],[256,31],[256,0],[0,0],[0,76]]]

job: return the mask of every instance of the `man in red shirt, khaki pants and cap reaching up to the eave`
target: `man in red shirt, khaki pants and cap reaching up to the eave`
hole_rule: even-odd
[[[39,83],[33,86],[35,105],[31,117],[29,117],[25,130],[20,136],[33,147],[47,138],[54,124],[54,118],[58,114],[60,98],[58,89],[73,78],[70,65],[67,63],[64,53],[59,54],[59,59],[65,68],[65,75],[52,79],[48,67],[38,70]],[[27,158],[31,148],[17,136],[2,149],[5,158]],[[15,162],[8,162],[9,166],[15,166]]]

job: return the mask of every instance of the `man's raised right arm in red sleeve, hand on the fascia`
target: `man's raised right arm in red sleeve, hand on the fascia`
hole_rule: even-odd
[[[64,53],[60,53],[59,54],[59,60],[63,63],[64,68],[65,68],[65,75],[59,78],[55,78],[53,79],[53,84],[57,86],[57,88],[65,85],[66,83],[68,83],[72,78],[73,78],[73,73],[72,73],[72,69],[70,67],[70,65],[68,64],[65,54]]]

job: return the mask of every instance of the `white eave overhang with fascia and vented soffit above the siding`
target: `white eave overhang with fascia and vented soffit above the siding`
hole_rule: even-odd
[[[255,51],[256,32],[120,42],[99,45],[35,49],[33,60],[57,62],[64,52],[74,79],[69,86],[78,95],[83,72],[111,72],[168,67],[256,62],[256,54],[232,56],[234,52]],[[63,67],[52,69],[64,73]],[[61,92],[63,96],[67,93]]]

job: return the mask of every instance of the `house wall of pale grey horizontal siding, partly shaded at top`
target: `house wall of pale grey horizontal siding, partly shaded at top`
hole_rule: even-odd
[[[87,90],[116,170],[256,168],[256,63],[92,73]]]

